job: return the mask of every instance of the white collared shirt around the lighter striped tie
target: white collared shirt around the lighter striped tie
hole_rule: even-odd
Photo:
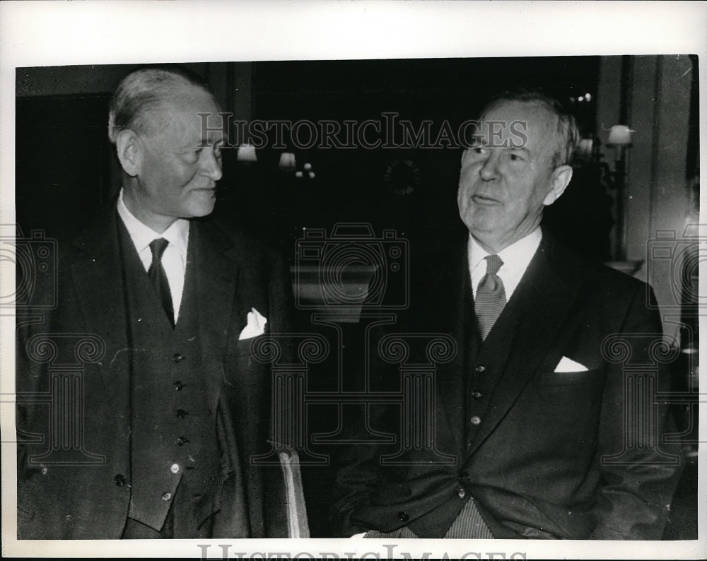
[[[498,276],[503,281],[503,288],[506,289],[506,302],[515,292],[520,279],[525,274],[525,270],[530,265],[530,261],[537,252],[537,248],[542,240],[542,230],[535,228],[530,234],[518,240],[508,247],[501,249],[496,255],[501,257],[503,265],[498,269]],[[483,247],[479,245],[474,236],[469,234],[469,243],[467,244],[467,254],[469,256],[469,273],[472,276],[472,288],[474,290],[474,300],[477,297],[477,288],[486,274],[487,255],[491,255]]]

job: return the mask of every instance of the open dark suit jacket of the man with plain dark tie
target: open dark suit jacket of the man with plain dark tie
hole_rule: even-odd
[[[126,521],[130,353],[117,220],[114,205],[73,242],[59,242],[57,270],[31,279],[35,295],[56,292],[57,307],[18,317],[20,538],[119,538]],[[243,471],[252,537],[286,537],[280,468],[250,465],[272,448],[271,367],[254,360],[254,341],[239,334],[252,307],[267,317],[266,333],[288,333],[288,270],[276,252],[210,218],[192,220],[189,244],[202,345],[220,361],[203,384],[223,438],[236,444],[230,461]],[[64,429],[71,442],[50,432],[50,413],[62,407],[57,396],[66,395],[52,386],[61,372],[79,374],[62,410],[76,418]]]

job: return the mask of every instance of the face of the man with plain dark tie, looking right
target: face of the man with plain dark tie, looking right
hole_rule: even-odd
[[[163,230],[177,218],[214,210],[224,140],[218,111],[207,93],[185,87],[148,115],[154,129],[137,133],[139,165],[126,194],[137,217],[151,228]],[[208,129],[216,130],[202,134],[207,127],[199,113],[209,113]]]

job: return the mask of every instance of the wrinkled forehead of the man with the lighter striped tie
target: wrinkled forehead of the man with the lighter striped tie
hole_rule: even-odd
[[[539,151],[555,149],[558,117],[538,102],[500,100],[487,105],[479,118],[482,141]],[[522,146],[519,146],[522,145]]]

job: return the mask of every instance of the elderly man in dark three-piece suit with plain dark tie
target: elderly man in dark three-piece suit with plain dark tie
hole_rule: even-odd
[[[272,449],[252,345],[287,333],[291,284],[276,252],[206,218],[219,110],[173,70],[131,73],[112,98],[119,197],[59,242],[56,285],[37,273],[56,309],[18,321],[20,538],[291,535],[280,467],[251,461]]]

